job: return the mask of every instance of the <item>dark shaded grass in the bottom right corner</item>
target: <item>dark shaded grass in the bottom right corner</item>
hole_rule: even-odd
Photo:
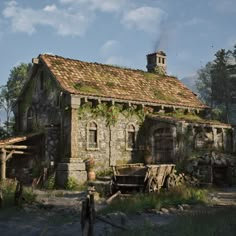
[[[170,224],[162,226],[144,225],[126,232],[116,231],[119,236],[234,236],[236,232],[236,207],[205,209],[178,216]]]

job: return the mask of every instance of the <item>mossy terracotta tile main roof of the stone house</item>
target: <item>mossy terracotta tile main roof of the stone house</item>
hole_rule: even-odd
[[[178,79],[141,70],[39,55],[61,87],[72,94],[205,108]]]

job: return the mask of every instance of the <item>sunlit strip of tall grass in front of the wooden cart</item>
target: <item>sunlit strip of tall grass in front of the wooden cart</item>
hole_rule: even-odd
[[[137,194],[131,198],[115,199],[101,210],[101,214],[122,211],[124,213],[143,212],[147,209],[177,206],[179,204],[207,203],[207,190],[178,186],[159,194]]]

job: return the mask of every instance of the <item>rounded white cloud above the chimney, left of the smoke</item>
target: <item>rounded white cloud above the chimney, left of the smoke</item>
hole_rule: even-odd
[[[160,30],[162,22],[166,19],[166,13],[155,7],[140,7],[124,14],[122,23],[127,28],[156,33]]]

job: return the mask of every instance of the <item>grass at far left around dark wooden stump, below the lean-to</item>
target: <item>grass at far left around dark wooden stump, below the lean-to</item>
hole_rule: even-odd
[[[14,205],[14,196],[17,182],[13,180],[5,180],[0,182],[0,188],[3,194],[3,208]],[[36,195],[31,188],[23,187],[22,197],[25,203],[32,203],[36,199]]]

